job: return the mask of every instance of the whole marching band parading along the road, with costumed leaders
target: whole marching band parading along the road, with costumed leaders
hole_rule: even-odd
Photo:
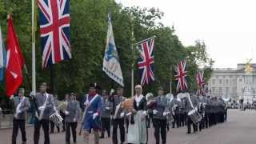
[[[158,96],[148,93],[142,95],[142,86],[135,86],[134,97],[123,96],[123,88],[119,87],[116,94],[111,90],[110,95],[102,90],[97,84],[90,84],[90,90],[82,102],[76,100],[74,93],[70,94],[65,101],[54,103],[52,94],[46,93],[46,83],[42,82],[39,93],[34,94],[38,114],[34,122],[34,144],[38,144],[40,128],[44,131],[45,144],[50,144],[49,123],[54,122],[58,127],[64,121],[66,127],[66,144],[70,144],[70,129],[73,142],[77,142],[77,127],[81,125],[84,142],[89,144],[89,135],[94,132],[94,143],[99,143],[99,138],[110,138],[110,126],[112,129],[113,144],[132,143],[147,144],[148,129],[150,123],[154,126],[155,143],[166,144],[167,127],[171,124],[173,128],[187,126],[187,134],[196,133],[203,129],[226,121],[226,102],[222,98],[210,97],[193,93],[164,94],[162,87],[158,88]],[[12,143],[16,143],[18,127],[22,131],[22,144],[26,144],[26,110],[30,108],[29,98],[24,97],[25,90],[18,90],[18,97],[12,98],[14,102],[14,128]],[[80,105],[82,103],[82,107]],[[84,112],[82,114],[82,109]],[[65,114],[62,118],[58,113]],[[125,122],[129,123],[128,129]],[[78,123],[81,122],[81,123]],[[119,130],[118,130],[119,127]],[[128,133],[126,135],[125,129]],[[118,131],[120,142],[118,142]],[[101,134],[101,135],[100,135]],[[127,139],[125,139],[127,138]],[[151,143],[151,142],[150,142]]]

